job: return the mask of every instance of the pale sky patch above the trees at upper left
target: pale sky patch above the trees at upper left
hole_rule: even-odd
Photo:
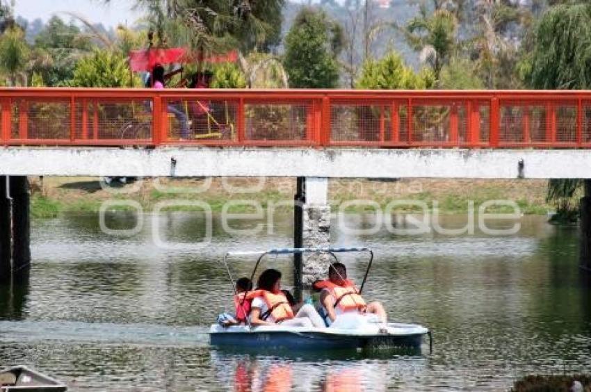
[[[37,18],[47,21],[53,15],[67,20],[70,17],[60,12],[69,11],[107,28],[126,22],[127,26],[132,26],[140,17],[140,13],[131,10],[133,3],[132,0],[111,0],[111,4],[105,6],[101,0],[15,0],[15,15],[29,21]]]

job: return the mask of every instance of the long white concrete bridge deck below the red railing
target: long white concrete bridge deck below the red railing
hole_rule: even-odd
[[[0,147],[0,175],[591,178],[585,149]]]

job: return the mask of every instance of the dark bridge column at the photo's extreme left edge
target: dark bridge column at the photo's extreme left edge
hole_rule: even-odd
[[[13,231],[10,220],[8,176],[0,176],[0,284],[9,283],[12,277]]]

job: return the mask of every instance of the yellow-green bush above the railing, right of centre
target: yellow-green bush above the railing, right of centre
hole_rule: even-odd
[[[417,90],[432,88],[434,84],[435,77],[430,70],[415,73],[395,51],[380,60],[366,60],[357,80],[357,88],[368,90]]]

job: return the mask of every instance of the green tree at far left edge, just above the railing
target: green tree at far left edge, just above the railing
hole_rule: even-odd
[[[0,67],[10,76],[10,85],[17,85],[17,76],[26,85],[25,67],[30,49],[24,40],[24,32],[19,26],[4,31],[0,38]]]

